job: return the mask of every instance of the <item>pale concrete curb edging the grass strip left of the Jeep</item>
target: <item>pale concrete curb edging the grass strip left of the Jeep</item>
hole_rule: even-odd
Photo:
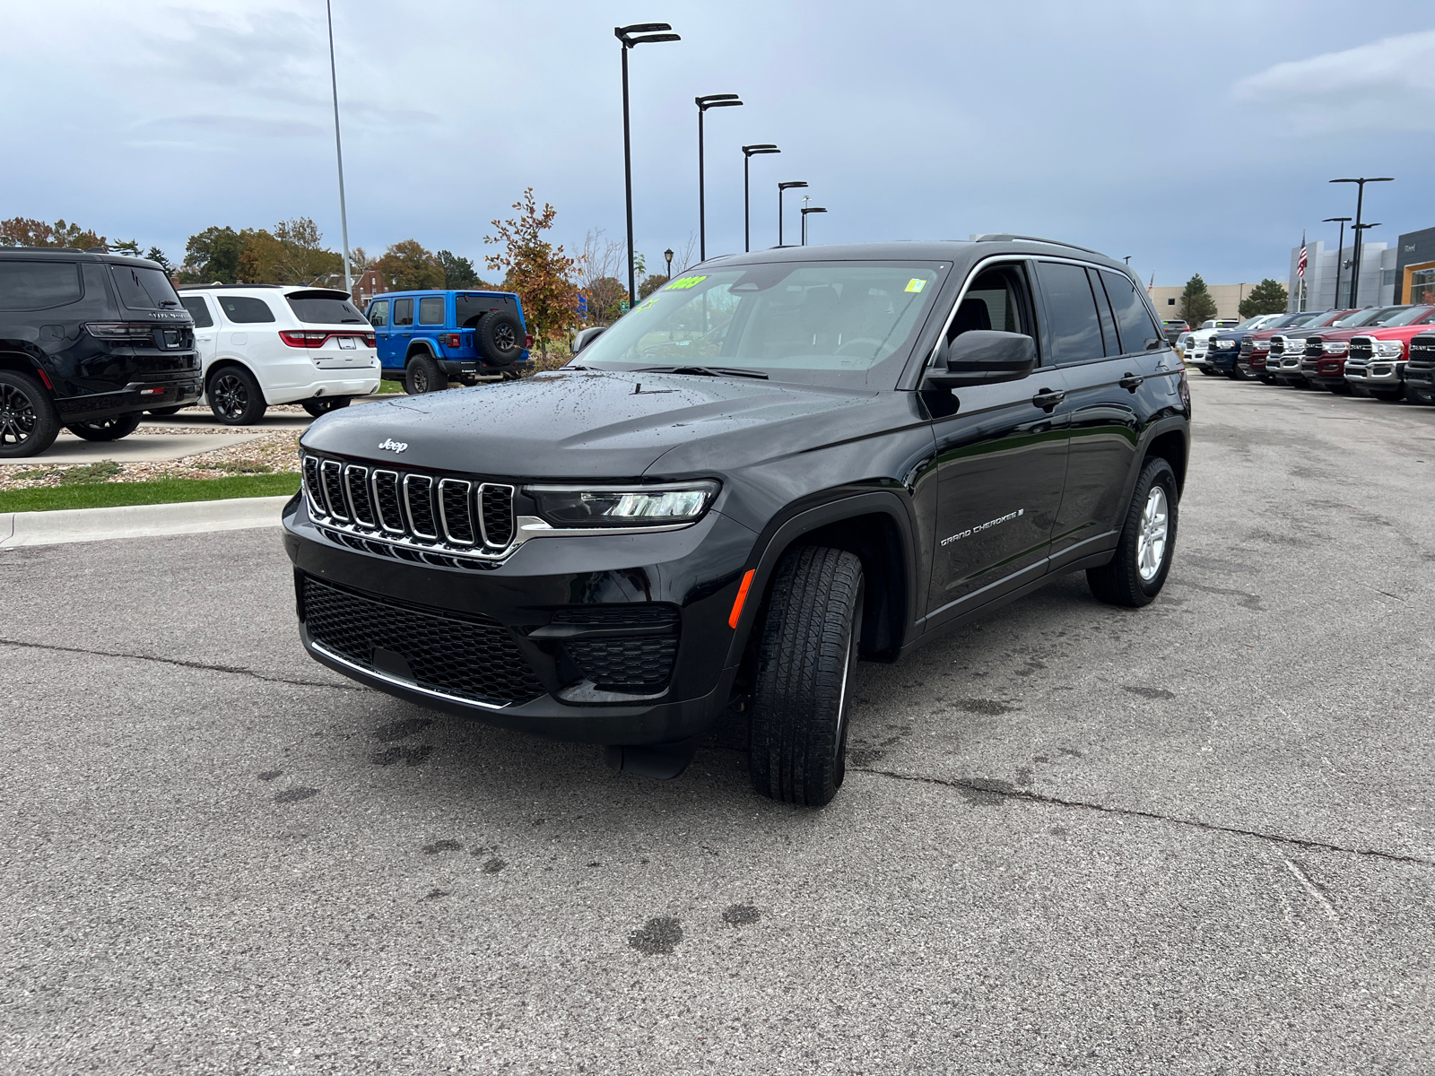
[[[0,512],[0,549],[278,527],[280,509],[288,501],[287,496],[235,496],[227,501],[182,501],[168,505]]]

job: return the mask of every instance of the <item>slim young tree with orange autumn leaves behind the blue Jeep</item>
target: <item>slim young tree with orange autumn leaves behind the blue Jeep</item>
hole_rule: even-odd
[[[577,260],[542,238],[558,211],[544,202],[540,212],[534,188],[524,191],[512,208],[518,217],[492,221],[497,235],[484,237],[484,242],[501,248],[485,261],[491,270],[505,271],[505,280],[522,300],[538,350],[547,357],[548,340],[567,336],[578,324],[578,288],[573,283]]]

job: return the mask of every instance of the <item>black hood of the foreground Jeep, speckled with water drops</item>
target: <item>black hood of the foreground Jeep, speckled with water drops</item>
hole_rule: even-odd
[[[330,412],[301,443],[406,466],[518,479],[719,471],[891,428],[878,396],[739,377],[558,370]],[[904,410],[910,403],[901,405]],[[397,446],[380,448],[382,445]]]

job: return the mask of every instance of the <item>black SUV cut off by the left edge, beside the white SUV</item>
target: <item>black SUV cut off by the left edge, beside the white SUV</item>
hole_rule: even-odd
[[[44,452],[60,426],[116,440],[198,397],[194,320],[156,263],[0,247],[0,456]]]

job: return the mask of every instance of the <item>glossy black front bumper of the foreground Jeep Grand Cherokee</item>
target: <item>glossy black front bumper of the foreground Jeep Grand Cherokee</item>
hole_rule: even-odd
[[[756,535],[716,511],[680,531],[534,538],[486,570],[418,564],[349,548],[309,516],[303,498],[286,506],[283,527],[304,648],[314,660],[380,692],[491,725],[606,745],[692,739],[730,702],[740,650],[728,615]],[[390,610],[393,624],[409,627],[396,627],[392,638],[373,643],[366,654],[349,643],[334,644],[331,636],[316,638],[306,594],[327,601],[333,593],[360,610]],[[624,628],[614,628],[604,614],[621,618],[627,611],[659,607],[674,610],[677,617],[667,679],[644,689],[596,684],[587,674],[590,651],[581,647],[634,637],[633,628],[623,636]],[[583,627],[600,620],[603,624]],[[445,634],[452,641],[464,627],[459,621],[488,633],[486,648],[462,660],[471,667],[502,660],[531,687],[485,700],[422,671],[429,667],[423,664],[429,661],[425,646],[443,641]],[[320,631],[331,633],[331,627]],[[456,660],[451,646],[445,660]]]

